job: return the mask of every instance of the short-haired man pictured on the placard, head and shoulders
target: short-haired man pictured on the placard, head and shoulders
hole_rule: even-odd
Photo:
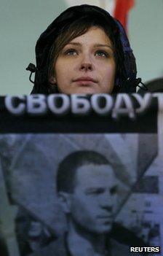
[[[111,238],[118,184],[114,168],[103,155],[90,150],[67,155],[57,168],[56,188],[67,230],[32,255],[131,255],[131,244]],[[141,244],[129,231],[122,230],[122,233],[132,236],[133,243]]]

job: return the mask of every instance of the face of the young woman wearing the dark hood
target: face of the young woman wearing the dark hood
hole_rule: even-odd
[[[63,47],[50,82],[60,93],[111,93],[115,73],[111,40],[103,29],[92,27]]]

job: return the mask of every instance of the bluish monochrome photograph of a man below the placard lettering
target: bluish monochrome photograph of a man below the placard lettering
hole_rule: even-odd
[[[162,246],[156,133],[4,134],[0,144],[3,255]]]

